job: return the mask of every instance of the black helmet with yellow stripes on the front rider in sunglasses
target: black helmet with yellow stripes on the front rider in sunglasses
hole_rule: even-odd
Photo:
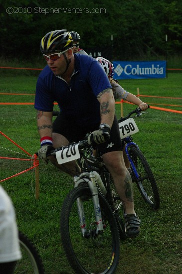
[[[71,34],[66,29],[54,30],[48,32],[40,41],[40,51],[42,53],[51,53],[64,51],[73,44]]]

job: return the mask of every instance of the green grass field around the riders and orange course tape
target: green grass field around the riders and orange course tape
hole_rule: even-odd
[[[33,103],[36,76],[0,78],[0,102]],[[182,98],[181,73],[169,73],[166,79],[124,80],[123,88],[141,95]],[[23,93],[26,95],[11,95]],[[151,106],[182,111],[182,99],[141,97]],[[160,104],[160,105],[155,105]],[[177,106],[178,105],[178,106]],[[56,107],[55,107],[56,108]],[[124,104],[124,115],[134,106]],[[0,131],[33,154],[39,148],[33,105],[0,105]],[[120,117],[120,105],[116,104]],[[154,172],[161,207],[151,211],[135,189],[135,209],[140,219],[138,238],[121,243],[116,274],[182,273],[182,114],[151,108],[137,118],[139,144]],[[18,154],[14,151],[23,153]],[[0,156],[24,158],[25,153],[0,135]],[[28,157],[26,157],[28,158]],[[30,161],[0,159],[0,180],[30,167]],[[71,177],[50,163],[40,161],[40,197],[35,200],[34,171],[2,182],[16,210],[19,230],[27,234],[43,259],[46,274],[72,274],[61,247],[59,215],[62,202],[72,188]]]

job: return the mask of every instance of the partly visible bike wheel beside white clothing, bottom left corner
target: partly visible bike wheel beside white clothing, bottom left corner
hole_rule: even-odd
[[[18,260],[14,274],[44,274],[42,259],[32,242],[22,232],[18,232],[22,259]]]

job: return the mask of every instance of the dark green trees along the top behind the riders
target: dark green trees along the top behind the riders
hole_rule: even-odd
[[[40,39],[62,28],[79,32],[86,51],[107,48],[115,60],[156,58],[167,51],[178,55],[181,10],[181,0],[5,0],[0,7],[0,55],[31,60],[40,56]]]

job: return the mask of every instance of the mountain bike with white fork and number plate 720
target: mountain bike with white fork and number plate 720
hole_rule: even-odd
[[[125,235],[125,227],[111,191],[110,173],[90,151],[85,138],[49,154],[59,164],[77,160],[82,169],[62,205],[62,245],[75,273],[113,274],[120,253],[118,229]]]

